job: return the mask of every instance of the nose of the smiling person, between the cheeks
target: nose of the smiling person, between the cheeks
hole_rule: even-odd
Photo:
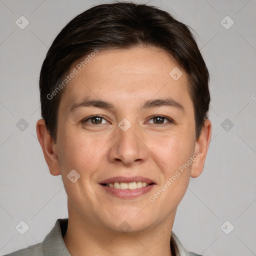
[[[144,162],[148,157],[148,148],[144,140],[145,134],[135,125],[132,124],[126,131],[117,126],[109,151],[109,160],[127,166]]]

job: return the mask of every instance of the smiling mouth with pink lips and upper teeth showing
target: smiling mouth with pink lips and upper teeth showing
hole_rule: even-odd
[[[147,193],[155,182],[144,177],[112,177],[99,182],[100,186],[114,196],[130,199]]]

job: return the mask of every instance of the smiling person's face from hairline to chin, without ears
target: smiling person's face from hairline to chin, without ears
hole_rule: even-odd
[[[61,164],[51,173],[61,173],[76,219],[116,231],[174,219],[201,161],[187,76],[178,67],[173,79],[174,67],[154,47],[100,50],[66,85],[53,145]]]

